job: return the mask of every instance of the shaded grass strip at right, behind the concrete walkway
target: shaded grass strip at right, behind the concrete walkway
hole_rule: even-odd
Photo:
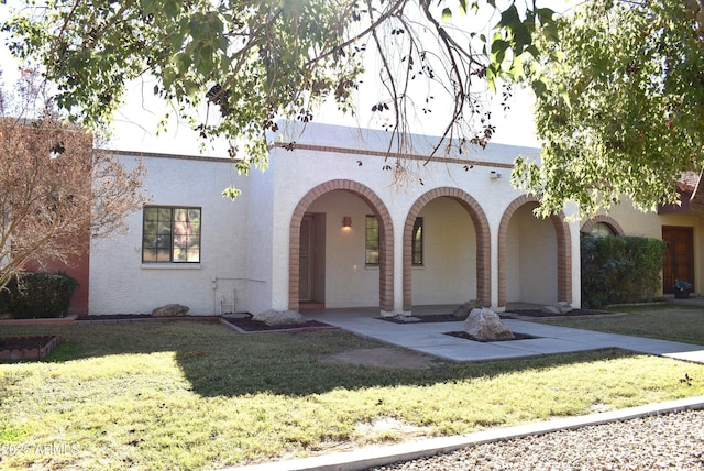
[[[624,316],[544,320],[544,324],[600,332],[704,344],[704,308],[673,304],[614,307]]]

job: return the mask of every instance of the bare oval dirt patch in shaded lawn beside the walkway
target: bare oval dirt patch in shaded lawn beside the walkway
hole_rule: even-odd
[[[435,361],[430,355],[393,347],[348,350],[329,355],[326,360],[338,363],[407,370],[427,370]]]

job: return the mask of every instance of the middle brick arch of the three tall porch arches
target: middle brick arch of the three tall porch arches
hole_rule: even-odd
[[[491,305],[491,237],[488,220],[481,205],[468,193],[459,188],[441,187],[431,189],[414,202],[404,223],[404,310],[413,307],[413,256],[411,243],[414,222],[420,210],[436,198],[447,197],[459,202],[466,210],[476,231],[476,297],[481,306]]]

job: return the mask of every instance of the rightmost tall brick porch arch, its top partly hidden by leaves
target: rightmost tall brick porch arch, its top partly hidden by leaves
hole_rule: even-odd
[[[508,223],[518,208],[539,201],[536,197],[524,195],[516,198],[502,217],[498,227],[498,306],[506,306],[506,237]],[[572,303],[572,239],[570,227],[564,222],[564,212],[550,216],[554,226],[558,244],[558,300]]]

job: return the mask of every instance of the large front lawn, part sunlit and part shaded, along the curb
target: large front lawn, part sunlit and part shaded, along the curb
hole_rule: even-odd
[[[217,469],[704,394],[704,365],[617,350],[399,370],[326,360],[380,346],[338,330],[0,325],[29,333],[64,340],[0,364],[10,469]]]

